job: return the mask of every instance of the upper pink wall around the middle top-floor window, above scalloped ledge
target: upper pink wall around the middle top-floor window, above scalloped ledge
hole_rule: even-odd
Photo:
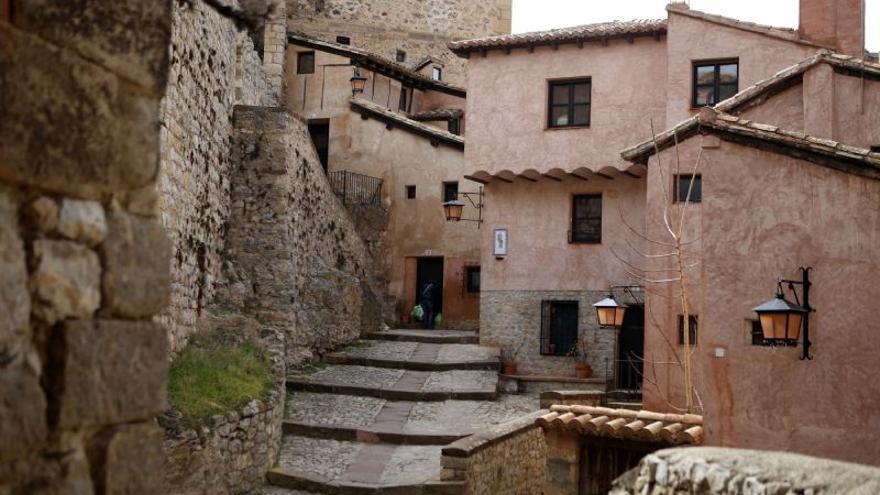
[[[663,39],[493,50],[472,56],[468,71],[469,171],[626,169],[619,151],[650,137],[652,119],[663,127]],[[591,126],[546,129],[547,81],[581,76],[592,78]]]

